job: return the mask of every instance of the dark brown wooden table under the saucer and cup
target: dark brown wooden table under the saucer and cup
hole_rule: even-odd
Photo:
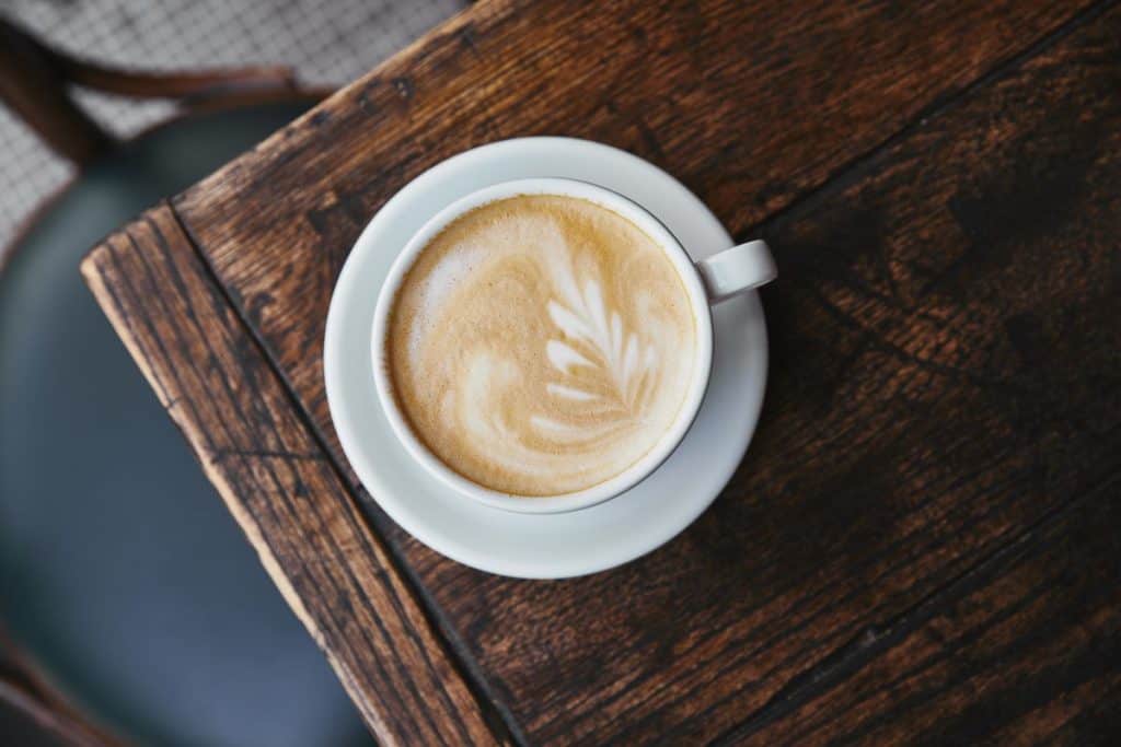
[[[1121,729],[1121,8],[912,4],[481,3],[84,262],[381,740]],[[374,211],[546,133],[654,161],[780,265],[732,483],[652,554],[555,582],[380,513],[321,367]]]

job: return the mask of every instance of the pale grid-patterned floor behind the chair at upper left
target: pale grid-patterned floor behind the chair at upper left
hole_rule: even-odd
[[[0,12],[76,56],[145,71],[280,64],[300,83],[342,85],[446,19],[461,0],[2,0]],[[96,92],[75,97],[120,136],[174,105]],[[0,248],[71,175],[0,106]],[[0,250],[2,251],[2,250]]]

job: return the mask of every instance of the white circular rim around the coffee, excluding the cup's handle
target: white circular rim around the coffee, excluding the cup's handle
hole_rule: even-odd
[[[641,458],[618,475],[591,487],[554,495],[521,495],[485,487],[464,477],[437,457],[413,431],[401,412],[390,382],[385,340],[389,315],[406,273],[417,256],[448,224],[483,205],[520,195],[558,195],[586,199],[622,215],[655,240],[673,262],[685,286],[696,324],[696,354],[689,390],[673,426]],[[696,419],[708,387],[713,363],[713,321],[708,297],[693,260],[677,237],[654,214],[629,197],[590,181],[564,177],[541,177],[502,181],[472,192],[452,202],[428,218],[413,234],[390,265],[378,292],[371,325],[370,349],[373,379],[381,404],[397,439],[406,451],[430,475],[457,493],[484,505],[522,514],[549,514],[580,511],[609,501],[649,477],[674,452]]]

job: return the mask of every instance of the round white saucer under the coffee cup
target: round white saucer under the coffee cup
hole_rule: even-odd
[[[673,456],[627,493],[565,514],[515,514],[448,491],[413,461],[378,402],[368,349],[378,291],[393,258],[433,214],[500,181],[584,179],[658,216],[694,255],[732,239],[679,181],[630,153],[569,138],[475,148],[425,171],[373,216],[343,267],[324,342],[327,402],[343,450],[378,505],[406,531],[461,563],[521,578],[605,570],[688,526],[723,489],[754,432],[767,384],[767,329],[758,293],[714,308],[716,357],[704,404]]]

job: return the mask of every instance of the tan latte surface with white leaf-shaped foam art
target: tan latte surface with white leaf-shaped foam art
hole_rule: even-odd
[[[502,493],[559,495],[624,471],[673,427],[696,320],[674,263],[631,221],[521,195],[428,243],[383,344],[400,410],[445,465]]]

